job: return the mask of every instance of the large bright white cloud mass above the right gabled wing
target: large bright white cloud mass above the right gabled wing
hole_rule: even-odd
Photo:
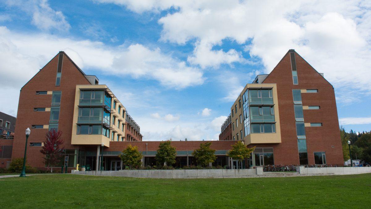
[[[247,52],[262,59],[265,73],[293,48],[325,74],[337,96],[350,96],[353,90],[357,95],[371,93],[371,6],[367,1],[104,1],[134,12],[174,8],[158,20],[163,28],[161,40],[180,45],[194,42],[188,62],[202,68],[243,62],[238,49],[213,49],[225,41],[247,44]]]

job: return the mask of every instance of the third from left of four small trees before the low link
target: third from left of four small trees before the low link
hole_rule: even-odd
[[[211,142],[205,142],[200,144],[200,148],[195,149],[192,152],[198,165],[207,166],[210,163],[214,163],[216,160],[215,149],[210,148]]]

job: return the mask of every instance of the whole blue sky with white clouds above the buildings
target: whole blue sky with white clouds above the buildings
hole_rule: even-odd
[[[1,1],[0,111],[15,116],[19,89],[65,51],[108,84],[144,139],[217,139],[243,86],[293,48],[334,85],[340,124],[370,131],[370,11],[367,1]]]

